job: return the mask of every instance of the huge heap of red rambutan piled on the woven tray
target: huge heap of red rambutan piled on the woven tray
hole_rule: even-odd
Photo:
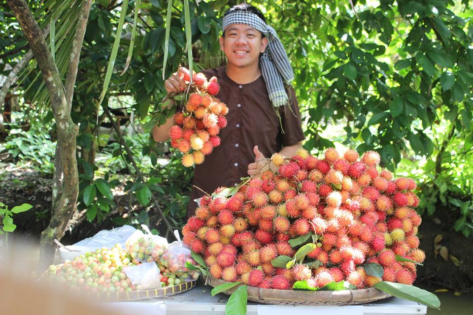
[[[360,159],[354,150],[340,155],[331,148],[316,158],[301,149],[270,160],[277,172],[250,178],[232,196],[219,195],[219,188],[203,197],[182,230],[212,277],[273,289],[292,289],[297,281],[357,288],[413,283],[425,254],[418,249],[412,179],[378,170],[373,151]]]

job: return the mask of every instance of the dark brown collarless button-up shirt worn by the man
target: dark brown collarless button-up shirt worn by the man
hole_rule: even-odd
[[[292,111],[287,106],[282,107],[279,110],[280,123],[263,76],[249,84],[238,84],[228,77],[225,66],[202,72],[207,79],[217,77],[220,92],[216,97],[227,104],[229,112],[226,116],[228,124],[220,130],[220,145],[195,167],[195,186],[208,193],[220,186],[234,187],[240,183],[241,177],[248,176],[248,164],[255,159],[255,145],[266,158],[270,158],[283,146],[304,140],[298,102],[292,88],[288,89]],[[197,208],[194,199],[202,196],[202,191],[192,189],[188,217],[194,215]]]

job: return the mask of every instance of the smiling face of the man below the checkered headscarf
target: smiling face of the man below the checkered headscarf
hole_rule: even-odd
[[[232,24],[225,30],[225,37],[220,37],[220,49],[237,67],[258,63],[267,45],[268,38],[262,38],[261,32],[246,24]]]

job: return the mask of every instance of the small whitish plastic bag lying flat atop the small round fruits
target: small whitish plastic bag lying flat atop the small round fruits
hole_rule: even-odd
[[[123,268],[136,290],[147,290],[161,287],[161,273],[154,261]]]

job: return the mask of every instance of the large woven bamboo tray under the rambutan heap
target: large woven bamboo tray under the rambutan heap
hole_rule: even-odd
[[[225,284],[225,281],[207,278],[207,284],[215,287]],[[231,295],[238,286],[223,293]],[[340,291],[295,291],[262,289],[248,286],[248,300],[264,304],[283,305],[356,305],[378,301],[391,297],[375,288],[340,290]]]

